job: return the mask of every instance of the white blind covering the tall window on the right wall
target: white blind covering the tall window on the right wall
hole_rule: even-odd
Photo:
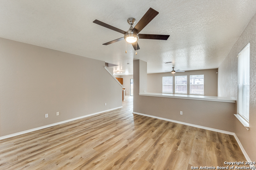
[[[250,43],[238,54],[238,114],[249,122]]]

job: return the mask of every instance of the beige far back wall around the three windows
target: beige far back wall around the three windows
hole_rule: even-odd
[[[175,82],[175,76],[186,75],[187,84],[188,84],[187,94],[189,94],[190,75],[204,74],[204,96],[217,96],[218,95],[218,74],[216,74],[216,72],[218,72],[218,69],[176,72],[173,77],[173,84]],[[173,74],[171,72],[148,74],[148,92],[162,93],[162,77],[163,76],[173,76]]]

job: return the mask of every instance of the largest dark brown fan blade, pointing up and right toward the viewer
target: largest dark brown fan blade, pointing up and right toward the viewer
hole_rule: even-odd
[[[152,21],[159,12],[154,10],[153,8],[149,8],[149,10],[144,14],[144,16],[138,21],[135,27],[132,29],[132,32],[139,33],[150,21]]]

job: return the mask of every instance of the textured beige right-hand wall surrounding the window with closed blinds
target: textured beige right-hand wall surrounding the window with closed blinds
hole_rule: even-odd
[[[219,67],[218,96],[237,100],[238,53],[250,42],[250,131],[235,119],[235,133],[252,161],[256,160],[256,15]],[[235,112],[234,112],[235,113]]]

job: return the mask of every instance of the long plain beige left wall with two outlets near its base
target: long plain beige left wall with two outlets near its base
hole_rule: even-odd
[[[0,136],[122,106],[122,87],[104,66],[0,38]]]

